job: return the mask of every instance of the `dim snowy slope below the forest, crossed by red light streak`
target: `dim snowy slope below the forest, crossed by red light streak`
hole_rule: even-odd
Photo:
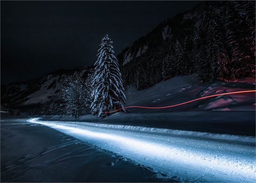
[[[161,107],[171,106],[182,102],[187,102],[196,98],[222,94],[228,92],[238,92],[243,90],[255,90],[255,80],[246,82],[222,82],[200,83],[196,74],[178,76],[161,81],[156,85],[138,91],[134,86],[126,87],[126,106],[148,106]],[[188,110],[254,110],[255,93],[231,94],[192,102],[183,106],[172,108],[171,111]],[[129,108],[132,113],[148,112],[170,112],[166,109],[142,109]]]

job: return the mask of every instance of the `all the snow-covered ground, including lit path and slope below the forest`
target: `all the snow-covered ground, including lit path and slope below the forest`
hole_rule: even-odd
[[[255,82],[200,83],[196,75],[179,76],[142,91],[128,86],[126,106],[169,106],[204,96],[254,89]],[[58,181],[63,182],[256,181],[255,93],[208,98],[171,109],[129,108],[129,113],[116,112],[104,119],[88,114],[78,119],[56,115],[29,121],[31,116],[22,116],[27,118],[22,121],[13,120],[12,116],[4,121],[3,115],[8,113],[1,112],[2,181],[52,182],[56,177],[62,177]],[[56,135],[53,129],[60,133]],[[59,134],[71,143],[62,143]],[[83,146],[92,146],[89,150],[77,147],[74,143],[78,141],[83,141]],[[104,158],[98,158],[97,154]],[[63,168],[69,164],[70,173]],[[84,169],[81,171],[78,166]],[[94,173],[99,167],[100,177]],[[108,167],[115,170],[111,172]],[[43,175],[48,175],[48,169],[59,171],[53,177],[39,179],[40,169],[44,170]],[[82,173],[77,174],[77,170]],[[14,178],[10,179],[14,172]],[[130,177],[125,180],[122,175]]]

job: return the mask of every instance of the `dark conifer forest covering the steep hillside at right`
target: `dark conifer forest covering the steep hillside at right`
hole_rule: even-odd
[[[198,73],[202,82],[255,78],[255,1],[208,5],[204,4],[198,25],[181,14],[138,40],[150,42],[149,49],[121,67],[124,84],[135,83],[141,90],[192,73]],[[171,35],[163,40],[161,28],[167,26]],[[122,56],[118,58],[123,60]]]

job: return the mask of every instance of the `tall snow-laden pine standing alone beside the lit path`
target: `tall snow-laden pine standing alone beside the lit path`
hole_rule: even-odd
[[[103,112],[123,108],[125,94],[123,81],[119,70],[119,63],[114,56],[112,41],[106,34],[98,50],[98,60],[95,62],[94,77],[92,81],[92,114],[102,116]],[[126,112],[125,109],[121,110]]]

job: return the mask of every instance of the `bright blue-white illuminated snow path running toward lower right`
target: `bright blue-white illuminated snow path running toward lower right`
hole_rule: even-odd
[[[152,171],[164,174],[165,178],[185,182],[256,181],[255,141],[246,141],[246,137],[241,137],[241,141],[232,141],[200,137],[200,134],[173,135],[110,127],[117,125],[101,127],[93,123],[80,125],[35,118],[28,121],[52,127],[125,156]]]

